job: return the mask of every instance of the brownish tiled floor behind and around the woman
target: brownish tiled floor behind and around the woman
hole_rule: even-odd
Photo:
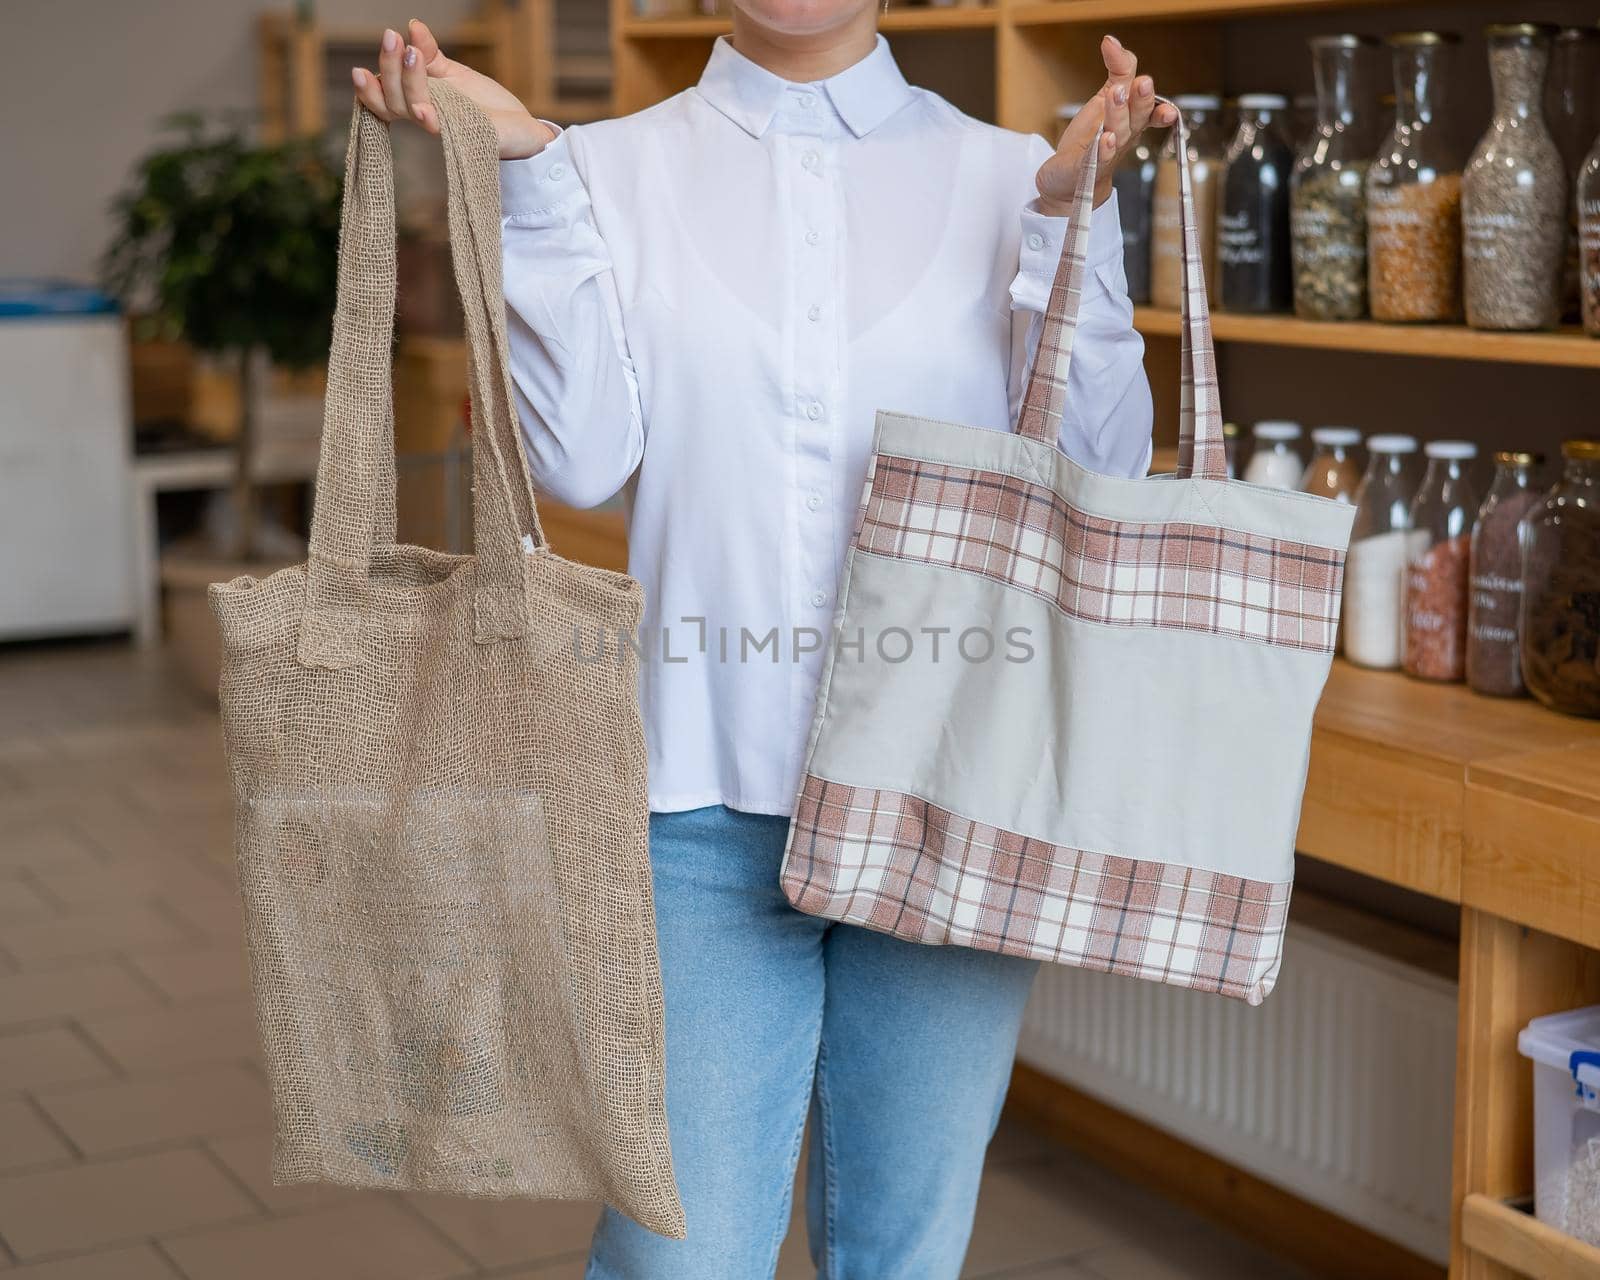
[[[0,1277],[576,1280],[592,1205],[270,1186],[230,858],[214,712],[158,658],[0,648]],[[1006,1120],[966,1275],[1298,1272]]]

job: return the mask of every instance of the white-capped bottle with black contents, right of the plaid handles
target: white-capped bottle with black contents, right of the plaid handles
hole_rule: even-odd
[[[1288,99],[1246,93],[1238,128],[1222,158],[1218,198],[1218,293],[1224,310],[1275,312],[1293,302],[1290,267],[1290,170],[1294,155],[1283,136]]]

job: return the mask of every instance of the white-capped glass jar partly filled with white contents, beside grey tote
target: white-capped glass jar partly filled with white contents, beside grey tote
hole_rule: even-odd
[[[1405,539],[1411,530],[1416,477],[1410,435],[1373,435],[1366,475],[1355,490],[1355,522],[1344,558],[1344,656],[1363,667],[1400,666],[1400,597]]]

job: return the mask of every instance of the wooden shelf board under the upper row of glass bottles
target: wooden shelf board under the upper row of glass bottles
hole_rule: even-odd
[[[1166,307],[1134,307],[1133,323],[1147,338],[1174,338],[1179,333],[1179,315]],[[1267,347],[1600,368],[1600,341],[1586,338],[1578,328],[1488,333],[1466,325],[1379,325],[1374,320],[1333,323],[1296,320],[1293,315],[1229,315],[1218,310],[1211,312],[1211,336],[1218,342],[1254,342]]]

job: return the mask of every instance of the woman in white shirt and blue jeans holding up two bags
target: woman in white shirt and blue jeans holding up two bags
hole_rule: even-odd
[[[427,27],[355,70],[384,120],[445,80],[494,120],[504,280],[534,483],[626,490],[648,613],[651,866],[667,1114],[688,1238],[606,1210],[590,1280],[755,1280],[806,1114],[822,1277],[962,1267],[1035,962],[789,907],[779,862],[874,411],[1010,429],[1086,149],[1090,272],[1062,448],[1142,474],[1150,397],[1110,174],[1171,123],[1106,37],[1054,150],[906,83],[875,0],[736,0],[699,83],[558,130]],[[917,629],[925,619],[907,619]]]

